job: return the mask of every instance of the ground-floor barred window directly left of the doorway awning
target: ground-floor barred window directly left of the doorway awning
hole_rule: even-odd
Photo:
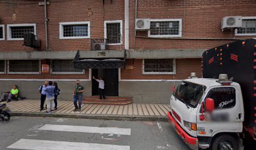
[[[84,74],[82,69],[74,69],[73,60],[53,60],[52,74]]]

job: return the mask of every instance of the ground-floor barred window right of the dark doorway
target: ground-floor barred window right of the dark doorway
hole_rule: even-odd
[[[175,74],[175,59],[144,59],[143,74]]]

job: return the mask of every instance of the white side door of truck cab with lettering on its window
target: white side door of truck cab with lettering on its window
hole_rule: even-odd
[[[237,99],[240,97],[237,96],[236,91],[235,87],[222,86],[211,88],[206,92],[207,94],[203,99],[204,106],[205,99],[211,98],[214,100],[215,109],[212,112],[204,111],[204,120],[200,120],[202,108],[198,109],[198,136],[214,136],[217,133],[239,132],[242,129],[242,121],[238,119],[242,99]]]

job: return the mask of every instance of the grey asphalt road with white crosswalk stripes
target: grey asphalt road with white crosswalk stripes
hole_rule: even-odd
[[[13,117],[0,137],[1,150],[189,149],[168,122]]]

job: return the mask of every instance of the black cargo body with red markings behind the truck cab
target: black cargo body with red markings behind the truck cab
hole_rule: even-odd
[[[203,78],[228,74],[240,84],[245,110],[244,126],[256,133],[256,39],[245,39],[208,49],[202,56]]]

